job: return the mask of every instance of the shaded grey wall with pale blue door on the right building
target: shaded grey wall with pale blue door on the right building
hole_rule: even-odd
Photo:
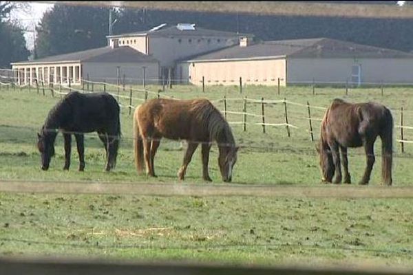
[[[351,82],[352,66],[361,66],[363,83],[413,83],[413,59],[288,58],[287,83]]]

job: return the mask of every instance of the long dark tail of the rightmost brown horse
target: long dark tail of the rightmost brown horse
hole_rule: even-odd
[[[393,159],[393,118],[389,109],[385,109],[385,120],[381,137],[381,176],[383,183],[392,185],[392,159]]]

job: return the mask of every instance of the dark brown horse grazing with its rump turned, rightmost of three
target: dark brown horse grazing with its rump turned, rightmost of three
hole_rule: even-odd
[[[381,137],[383,183],[392,185],[392,143],[393,118],[390,110],[382,104],[348,103],[341,99],[333,100],[321,122],[321,135],[317,151],[323,181],[341,183],[341,157],[343,157],[344,182],[351,183],[348,173],[348,147],[364,146],[366,170],[360,184],[368,184],[374,164],[374,142]]]

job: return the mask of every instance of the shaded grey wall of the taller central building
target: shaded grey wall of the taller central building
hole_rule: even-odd
[[[175,61],[196,54],[218,50],[239,43],[234,37],[150,37],[148,52],[158,61],[161,67],[174,67]],[[176,73],[177,74],[177,73]]]

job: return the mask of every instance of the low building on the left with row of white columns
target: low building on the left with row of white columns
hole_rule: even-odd
[[[81,79],[116,83],[118,75],[159,78],[158,61],[131,47],[100,47],[82,52],[49,56],[34,61],[12,63],[19,85],[62,83],[80,85]]]

